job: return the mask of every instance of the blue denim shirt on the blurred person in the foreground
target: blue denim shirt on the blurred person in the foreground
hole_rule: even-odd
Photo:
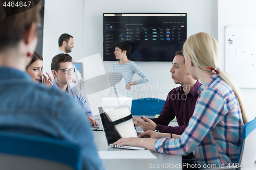
[[[63,139],[79,145],[83,169],[104,169],[87,117],[68,94],[33,83],[28,74],[0,67],[0,130]]]

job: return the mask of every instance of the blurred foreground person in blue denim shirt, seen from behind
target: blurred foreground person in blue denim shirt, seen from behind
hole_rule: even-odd
[[[79,145],[83,169],[104,169],[79,104],[66,93],[34,83],[25,72],[37,44],[39,6],[17,7],[24,12],[7,17],[0,5],[1,132],[69,141]]]

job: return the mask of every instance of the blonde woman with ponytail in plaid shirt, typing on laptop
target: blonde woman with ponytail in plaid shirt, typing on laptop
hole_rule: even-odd
[[[172,136],[147,131],[139,138],[121,138],[114,144],[175,155],[193,151],[199,168],[236,163],[247,118],[240,89],[218,68],[219,45],[209,34],[197,33],[185,41],[183,53],[190,75],[203,83],[184,133]]]

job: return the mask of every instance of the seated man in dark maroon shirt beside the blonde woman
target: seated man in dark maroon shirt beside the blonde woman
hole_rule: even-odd
[[[140,126],[143,131],[156,130],[181,135],[188,125],[189,118],[193,115],[198,98],[197,91],[201,84],[187,71],[182,51],[176,52],[170,72],[172,72],[174,83],[181,86],[170,90],[158,118],[149,119],[143,116],[142,119],[133,116],[135,126]],[[168,126],[175,116],[179,126]]]

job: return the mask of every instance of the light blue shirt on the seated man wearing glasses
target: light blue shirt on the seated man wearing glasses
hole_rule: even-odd
[[[52,84],[53,84],[53,86],[52,86],[53,88],[58,89],[60,91],[55,80],[53,80]],[[69,83],[65,93],[72,95],[74,97],[74,99],[80,104],[84,113],[87,116],[93,116],[93,118],[95,119],[94,114],[92,113],[92,110],[90,109],[90,106],[86,102],[86,99],[84,99],[81,90],[77,86],[73,85],[72,83]]]

